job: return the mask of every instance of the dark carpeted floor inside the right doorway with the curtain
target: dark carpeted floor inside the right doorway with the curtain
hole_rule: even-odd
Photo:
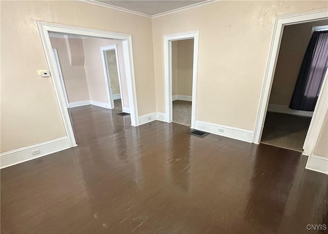
[[[268,112],[261,143],[303,152],[311,117]]]

